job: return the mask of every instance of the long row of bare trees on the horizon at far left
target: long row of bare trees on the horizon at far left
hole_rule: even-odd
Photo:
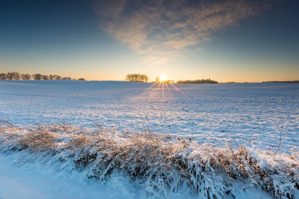
[[[72,80],[71,77],[61,77],[60,75],[41,75],[39,73],[30,74],[20,74],[18,72],[1,73],[0,80]],[[76,79],[73,79],[76,80]],[[79,78],[78,80],[85,81],[84,78]]]

